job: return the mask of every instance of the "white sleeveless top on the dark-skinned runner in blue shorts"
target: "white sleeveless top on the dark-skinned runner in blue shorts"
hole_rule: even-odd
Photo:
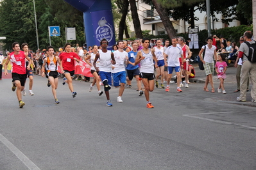
[[[102,52],[99,50],[99,71],[111,72],[111,50]]]

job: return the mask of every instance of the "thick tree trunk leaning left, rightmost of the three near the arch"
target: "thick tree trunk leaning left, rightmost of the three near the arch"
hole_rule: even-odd
[[[152,0],[152,3],[154,4],[155,9],[157,10],[157,13],[160,16],[160,19],[164,24],[164,27],[167,31],[167,35],[169,36],[170,40],[171,38],[176,37],[175,27],[173,27],[173,23],[169,19],[169,15],[167,13],[166,8],[163,8],[159,3],[157,3],[157,0]]]

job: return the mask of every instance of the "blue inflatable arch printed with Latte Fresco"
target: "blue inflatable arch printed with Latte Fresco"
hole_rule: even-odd
[[[103,38],[108,49],[115,44],[114,21],[111,0],[64,0],[83,12],[87,47],[99,45]]]

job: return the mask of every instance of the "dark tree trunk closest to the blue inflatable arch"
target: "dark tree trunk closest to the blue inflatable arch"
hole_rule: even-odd
[[[123,40],[124,38],[124,26],[125,26],[125,20],[126,20],[126,15],[128,13],[128,7],[129,7],[129,1],[128,0],[123,0],[123,8],[121,9],[122,11],[122,17],[119,23],[119,35],[118,35],[118,40]]]

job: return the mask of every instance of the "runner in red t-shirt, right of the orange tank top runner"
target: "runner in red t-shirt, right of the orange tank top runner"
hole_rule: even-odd
[[[72,76],[74,75],[74,61],[80,62],[80,57],[75,52],[71,52],[71,43],[65,44],[65,52],[60,54],[60,60],[62,61],[62,67],[64,70],[63,85],[67,82],[69,89],[72,93],[73,98],[76,97],[77,93],[73,89]]]

